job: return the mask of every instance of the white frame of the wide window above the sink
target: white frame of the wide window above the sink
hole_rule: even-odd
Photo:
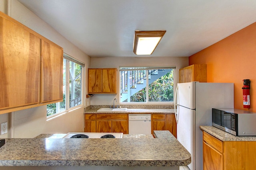
[[[170,102],[150,102],[148,101],[148,71],[146,71],[146,102],[121,102],[121,80],[120,80],[120,74],[121,71],[124,70],[123,68],[127,68],[127,70],[151,70],[151,69],[173,69],[173,95],[175,95],[175,91],[176,91],[176,86],[177,86],[177,81],[176,81],[176,66],[119,66],[119,82],[118,82],[118,88],[119,88],[119,103],[120,104],[125,104],[125,105],[166,105],[166,104],[174,104],[174,101],[170,101]],[[132,69],[134,68],[134,69]]]

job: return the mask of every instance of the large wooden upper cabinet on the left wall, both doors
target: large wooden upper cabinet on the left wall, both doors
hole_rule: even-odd
[[[61,101],[62,57],[61,47],[0,12],[0,114]]]

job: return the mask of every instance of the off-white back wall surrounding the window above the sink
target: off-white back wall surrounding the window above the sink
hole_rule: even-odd
[[[90,68],[117,68],[119,66],[176,66],[176,82],[179,81],[179,69],[188,66],[188,57],[92,57]],[[119,72],[117,81],[119,82]],[[119,87],[119,83],[118,83]],[[94,94],[91,105],[113,105],[118,94]],[[119,104],[119,100],[117,101]]]

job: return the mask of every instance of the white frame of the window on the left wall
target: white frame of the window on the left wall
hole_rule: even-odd
[[[65,110],[63,110],[63,111],[60,111],[60,112],[58,112],[58,113],[54,113],[54,114],[52,114],[52,115],[49,115],[49,116],[47,116],[47,114],[46,114],[46,119],[47,119],[47,121],[48,120],[51,120],[51,119],[54,119],[55,117],[58,117],[58,116],[60,116],[60,115],[63,115],[63,114],[65,114],[65,113],[68,113],[68,112],[70,112],[70,111],[72,111],[72,110],[75,110],[75,109],[77,109],[78,107],[82,107],[83,106],[83,103],[84,103],[84,83],[85,83],[85,81],[84,81],[84,74],[85,74],[85,64],[84,63],[82,63],[82,62],[80,62],[80,61],[78,61],[78,60],[76,60],[76,59],[74,59],[73,57],[71,57],[70,55],[68,55],[68,54],[66,54],[66,53],[63,53],[63,60],[66,60],[66,63],[65,63],[65,65],[66,65],[66,77],[65,77],[65,80],[66,80],[66,82],[65,82],[65,88],[66,88],[66,93],[65,93]],[[77,106],[74,106],[74,107],[69,107],[69,103],[70,103],[70,99],[69,99],[69,95],[70,95],[70,83],[69,83],[69,80],[70,80],[70,68],[69,68],[69,64],[70,64],[70,62],[73,62],[73,63],[76,63],[76,64],[79,64],[80,66],[81,66],[81,72],[80,72],[80,83],[81,83],[81,103],[79,104],[79,105],[77,105]],[[63,63],[64,63],[64,61],[63,61]],[[68,69],[67,69],[68,68]],[[64,70],[64,68],[63,68],[63,70]],[[68,74],[67,74],[68,73]],[[64,81],[64,74],[63,74],[63,81]],[[64,90],[63,90],[64,91]],[[64,92],[63,92],[63,94],[64,94]],[[55,103],[56,104],[56,107],[57,107],[57,105],[58,104],[60,104],[60,102],[57,102],[57,103]]]

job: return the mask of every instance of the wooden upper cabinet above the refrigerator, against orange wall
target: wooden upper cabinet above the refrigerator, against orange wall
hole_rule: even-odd
[[[206,64],[193,64],[179,70],[179,82],[207,82]]]

